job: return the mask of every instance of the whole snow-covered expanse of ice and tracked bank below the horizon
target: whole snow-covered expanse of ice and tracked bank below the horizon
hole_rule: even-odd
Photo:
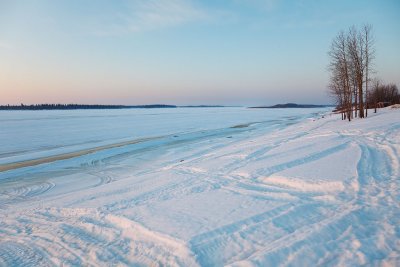
[[[0,167],[43,157],[0,172],[0,266],[400,265],[399,109],[1,112]]]

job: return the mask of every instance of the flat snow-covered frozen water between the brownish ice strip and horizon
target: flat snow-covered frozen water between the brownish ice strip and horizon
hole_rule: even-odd
[[[252,123],[279,124],[319,110],[172,108],[0,112],[0,164],[147,137]]]

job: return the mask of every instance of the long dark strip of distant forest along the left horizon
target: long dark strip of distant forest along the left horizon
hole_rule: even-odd
[[[81,104],[36,104],[3,105],[0,110],[71,110],[71,109],[124,109],[124,108],[176,108],[175,105],[81,105]]]

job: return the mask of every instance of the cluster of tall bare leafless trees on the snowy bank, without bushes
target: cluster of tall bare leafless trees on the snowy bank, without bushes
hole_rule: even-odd
[[[353,114],[364,118],[368,115],[368,86],[375,57],[372,26],[366,24],[361,30],[353,26],[346,33],[341,31],[333,39],[328,54],[330,94],[336,96],[349,121]]]

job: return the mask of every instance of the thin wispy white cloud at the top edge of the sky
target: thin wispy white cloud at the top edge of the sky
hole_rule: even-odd
[[[137,0],[114,12],[96,35],[121,35],[178,26],[209,19],[209,14],[190,0]]]

